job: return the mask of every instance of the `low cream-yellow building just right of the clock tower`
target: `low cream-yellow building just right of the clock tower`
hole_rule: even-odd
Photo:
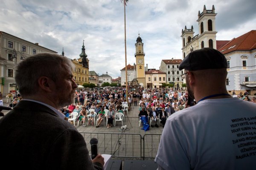
[[[145,71],[145,80],[147,88],[162,88],[162,84],[166,83],[166,72],[155,69]]]

